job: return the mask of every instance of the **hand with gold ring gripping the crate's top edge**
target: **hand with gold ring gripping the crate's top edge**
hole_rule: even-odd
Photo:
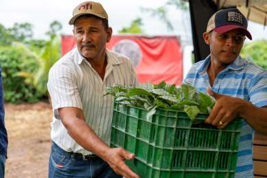
[[[205,123],[223,129],[240,113],[245,101],[239,98],[228,97],[224,94],[218,94],[212,91],[211,88],[208,88],[207,92],[216,99],[216,103]]]

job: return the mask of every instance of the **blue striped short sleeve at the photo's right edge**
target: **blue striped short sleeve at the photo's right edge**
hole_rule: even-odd
[[[251,103],[257,107],[263,107],[267,105],[267,73],[261,73],[255,75],[251,79],[249,87],[249,97]]]

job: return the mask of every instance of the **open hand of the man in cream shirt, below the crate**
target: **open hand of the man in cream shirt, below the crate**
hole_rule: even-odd
[[[131,160],[135,157],[133,153],[129,153],[123,148],[108,149],[103,159],[110,164],[110,167],[118,175],[123,175],[125,178],[139,178],[136,173],[123,162],[124,160]]]

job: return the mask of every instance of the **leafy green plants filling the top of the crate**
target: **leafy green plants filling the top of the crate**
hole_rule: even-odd
[[[149,88],[147,87],[149,86]],[[127,105],[155,110],[156,107],[169,110],[183,110],[192,120],[199,113],[209,113],[215,100],[209,95],[197,92],[196,88],[183,84],[180,87],[166,84],[144,85],[142,88],[124,88],[113,86],[106,88],[107,94],[112,94],[115,101]],[[154,112],[154,111],[153,111]],[[151,113],[153,113],[151,111]]]

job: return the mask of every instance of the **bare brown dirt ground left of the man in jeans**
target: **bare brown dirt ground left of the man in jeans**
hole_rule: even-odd
[[[5,177],[47,177],[51,120],[49,103],[5,104],[9,141]]]

